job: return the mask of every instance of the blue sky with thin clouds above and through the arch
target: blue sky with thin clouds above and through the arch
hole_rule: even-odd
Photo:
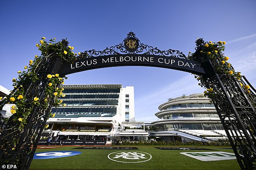
[[[36,44],[67,38],[74,52],[103,50],[130,31],[159,49],[195,51],[196,37],[226,41],[235,71],[256,86],[255,0],[44,0],[0,2],[0,85],[13,89],[17,71],[40,55]],[[154,121],[169,97],[203,92],[187,72],[151,67],[115,67],[68,75],[65,84],[134,86],[136,121]]]

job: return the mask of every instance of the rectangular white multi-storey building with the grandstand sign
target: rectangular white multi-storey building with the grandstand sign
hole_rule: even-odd
[[[60,99],[66,106],[52,108],[55,117],[48,119],[49,126],[44,131],[41,144],[49,137],[57,138],[63,145],[105,144],[116,131],[120,131],[122,123],[135,121],[133,86],[96,84],[61,87],[65,89],[65,96]]]

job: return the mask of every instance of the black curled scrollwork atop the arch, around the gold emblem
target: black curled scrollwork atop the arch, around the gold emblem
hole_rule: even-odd
[[[125,42],[127,39],[131,38],[135,39],[138,43],[138,47],[135,51],[128,51],[125,47]],[[168,50],[160,50],[157,47],[152,47],[149,45],[145,45],[144,43],[141,43],[141,41],[136,38],[135,34],[133,32],[130,32],[127,34],[126,39],[118,45],[107,47],[103,51],[97,51],[95,49],[84,51],[80,54],[80,58],[88,58],[88,57],[99,57],[99,56],[107,56],[107,55],[124,55],[124,54],[147,54],[147,55],[159,55],[159,56],[166,56],[166,57],[177,57],[177,58],[183,58],[187,59],[185,54],[178,50],[168,49]]]

